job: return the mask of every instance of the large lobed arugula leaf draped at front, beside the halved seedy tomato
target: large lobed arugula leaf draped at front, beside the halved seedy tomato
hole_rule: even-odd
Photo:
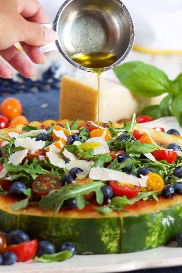
[[[101,187],[105,184],[102,181],[93,181],[86,185],[65,185],[60,190],[51,190],[49,194],[41,197],[39,207],[44,211],[54,208],[54,215],[59,211],[63,202],[69,198],[76,198],[76,205],[79,210],[85,207],[86,201],[83,194],[89,194],[94,191],[96,193],[96,201],[98,204],[103,203],[103,193]]]

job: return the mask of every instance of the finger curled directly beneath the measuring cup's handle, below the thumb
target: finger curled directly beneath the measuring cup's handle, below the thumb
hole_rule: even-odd
[[[43,53],[40,52],[38,46],[28,45],[24,42],[20,43],[24,52],[29,56],[32,62],[37,64],[44,64],[45,63],[45,56]]]

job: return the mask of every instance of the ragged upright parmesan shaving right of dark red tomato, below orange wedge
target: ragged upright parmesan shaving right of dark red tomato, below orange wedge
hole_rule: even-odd
[[[49,152],[46,152],[46,156],[49,158],[50,163],[59,168],[65,168],[66,163],[62,157],[60,157],[60,150],[55,145],[51,144]]]

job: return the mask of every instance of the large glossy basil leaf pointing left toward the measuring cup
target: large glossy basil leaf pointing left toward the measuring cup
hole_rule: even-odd
[[[143,62],[128,62],[113,70],[126,88],[140,96],[154,97],[169,92],[170,80],[154,66]]]

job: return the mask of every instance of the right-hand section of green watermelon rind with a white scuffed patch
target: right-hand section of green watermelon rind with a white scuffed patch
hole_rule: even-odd
[[[123,218],[122,253],[156,248],[182,231],[182,204]]]

